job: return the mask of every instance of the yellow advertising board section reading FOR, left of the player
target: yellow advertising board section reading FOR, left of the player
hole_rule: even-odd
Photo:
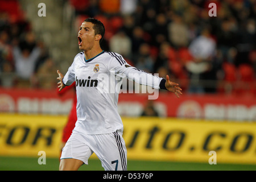
[[[0,114],[0,155],[59,156],[67,116]]]

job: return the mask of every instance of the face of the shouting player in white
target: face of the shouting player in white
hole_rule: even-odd
[[[83,51],[88,51],[92,49],[94,45],[95,32],[93,29],[93,23],[91,22],[82,22],[79,27],[79,49]]]

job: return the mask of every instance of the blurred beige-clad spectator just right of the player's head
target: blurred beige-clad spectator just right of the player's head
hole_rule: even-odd
[[[131,56],[131,39],[124,31],[119,31],[109,40],[109,48],[112,52],[117,52],[124,57]]]

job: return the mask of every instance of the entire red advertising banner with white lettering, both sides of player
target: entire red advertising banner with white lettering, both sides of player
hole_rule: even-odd
[[[59,96],[56,90],[0,88],[0,111],[34,114],[68,114],[72,90]],[[256,97],[237,95],[183,94],[159,92],[156,100],[148,94],[119,94],[118,111],[122,116],[138,117],[147,105],[153,105],[160,117],[228,119],[256,121]]]

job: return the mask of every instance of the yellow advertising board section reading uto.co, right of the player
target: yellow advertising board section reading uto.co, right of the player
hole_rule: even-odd
[[[256,123],[123,118],[128,159],[256,164]]]

